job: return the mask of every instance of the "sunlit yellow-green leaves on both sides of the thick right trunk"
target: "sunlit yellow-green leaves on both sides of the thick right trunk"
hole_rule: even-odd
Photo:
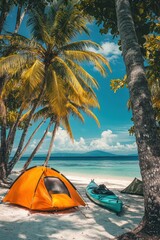
[[[158,24],[157,24],[158,25]],[[151,91],[152,106],[155,111],[155,118],[157,126],[160,122],[160,66],[159,66],[159,55],[160,55],[160,37],[158,35],[147,35],[145,36],[146,41],[144,44],[144,52],[146,55],[146,75],[148,86]],[[127,77],[123,79],[111,80],[111,89],[116,92],[118,89],[127,87]],[[128,101],[128,107],[131,109],[130,101]],[[134,134],[134,127],[129,129],[130,134]]]

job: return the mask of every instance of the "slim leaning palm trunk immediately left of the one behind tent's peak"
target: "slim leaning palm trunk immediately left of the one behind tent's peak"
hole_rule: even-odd
[[[39,141],[38,145],[33,150],[32,154],[30,155],[30,157],[28,158],[28,160],[24,164],[23,169],[22,169],[23,172],[28,168],[29,164],[31,163],[32,159],[34,158],[35,154],[37,153],[38,149],[41,147],[42,143],[44,142],[44,139],[47,136],[47,133],[48,133],[48,131],[50,129],[51,124],[52,124],[52,121],[50,121],[50,123],[49,123],[49,125],[48,125],[48,127],[47,127],[47,129],[45,131],[45,133],[43,134],[43,137],[41,138],[41,140]]]

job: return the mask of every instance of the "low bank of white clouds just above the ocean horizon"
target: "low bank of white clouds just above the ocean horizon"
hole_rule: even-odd
[[[127,130],[126,130],[127,131]],[[46,153],[50,143],[51,132],[48,133],[47,139],[41,147],[39,153]],[[124,131],[124,138],[126,132]],[[36,143],[36,141],[34,141]],[[34,144],[31,145],[31,147]],[[54,141],[53,152],[88,152],[93,150],[107,151],[115,154],[132,154],[137,152],[135,142],[125,143],[123,141],[123,134],[120,132],[113,133],[111,130],[103,131],[99,138],[84,139],[80,137],[74,140],[69,138],[66,130],[61,127],[58,129]]]

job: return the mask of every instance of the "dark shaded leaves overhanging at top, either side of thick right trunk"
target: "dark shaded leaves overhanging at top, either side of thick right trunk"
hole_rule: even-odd
[[[81,0],[80,7],[87,14],[94,16],[101,33],[111,32],[113,37],[119,35],[117,26],[116,2],[112,0]],[[159,4],[152,0],[130,0],[135,31],[140,46],[145,42],[145,35],[159,31]]]

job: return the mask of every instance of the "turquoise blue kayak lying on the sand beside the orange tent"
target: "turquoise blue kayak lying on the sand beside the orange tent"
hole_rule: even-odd
[[[122,201],[104,184],[97,185],[94,180],[86,187],[87,196],[98,205],[112,210],[116,213],[122,211],[123,203]]]

